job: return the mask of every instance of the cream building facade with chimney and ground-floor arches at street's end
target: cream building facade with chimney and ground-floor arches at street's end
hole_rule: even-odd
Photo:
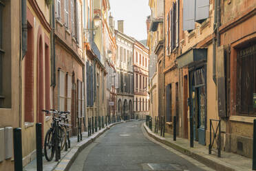
[[[123,22],[118,21],[116,34],[116,72],[118,73],[117,114],[122,119],[134,118],[134,39],[124,34]]]

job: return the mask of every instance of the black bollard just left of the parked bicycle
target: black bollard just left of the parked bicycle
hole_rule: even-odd
[[[37,171],[43,170],[42,123],[36,123],[36,168]]]

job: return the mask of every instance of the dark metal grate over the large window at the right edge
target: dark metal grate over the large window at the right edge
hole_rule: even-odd
[[[253,93],[256,92],[256,43],[237,51],[237,110],[256,114]]]

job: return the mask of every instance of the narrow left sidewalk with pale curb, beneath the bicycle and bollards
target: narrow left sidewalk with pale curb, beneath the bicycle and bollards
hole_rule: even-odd
[[[118,123],[124,123],[125,121],[121,121]],[[101,134],[109,130],[113,125],[116,125],[118,123],[111,123],[110,125],[105,126],[105,128],[102,128],[101,130],[98,130],[98,132],[95,132],[92,134],[91,137],[88,137],[88,132],[83,132],[82,137],[83,140],[80,142],[77,142],[77,137],[73,136],[70,137],[70,148],[65,152],[65,150],[61,151],[61,160],[55,161],[55,156],[52,161],[47,161],[45,157],[43,157],[43,170],[45,171],[59,171],[59,170],[68,170],[70,166],[72,165],[73,161],[78,156],[79,152],[83,150],[87,145],[92,143],[96,138],[98,138]],[[31,161],[28,165],[26,165],[23,168],[23,171],[34,171],[36,170],[36,159]]]

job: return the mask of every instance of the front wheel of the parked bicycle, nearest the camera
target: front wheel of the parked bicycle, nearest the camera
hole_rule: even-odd
[[[54,157],[54,137],[52,130],[48,130],[45,135],[45,145],[44,145],[44,151],[45,151],[45,159],[47,161],[52,161]]]

